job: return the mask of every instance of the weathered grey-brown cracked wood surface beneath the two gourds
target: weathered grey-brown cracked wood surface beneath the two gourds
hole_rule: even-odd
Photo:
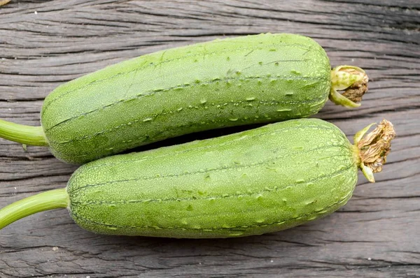
[[[363,106],[316,117],[348,136],[386,118],[398,137],[377,183],[339,212],[230,240],[106,237],[65,210],[0,232],[0,277],[420,277],[420,1],[11,1],[0,8],[0,118],[38,125],[57,85],[117,61],[223,36],[293,32],[370,75]],[[220,135],[212,131],[169,140]],[[156,145],[155,145],[156,146]],[[76,166],[0,140],[0,207],[64,187]]]

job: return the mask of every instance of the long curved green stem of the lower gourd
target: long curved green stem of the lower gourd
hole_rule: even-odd
[[[18,200],[0,210],[0,230],[36,212],[64,208],[69,205],[66,189],[54,189]]]

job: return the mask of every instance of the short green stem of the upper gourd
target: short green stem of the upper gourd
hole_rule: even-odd
[[[0,119],[0,138],[25,145],[48,147],[42,126],[25,126]]]

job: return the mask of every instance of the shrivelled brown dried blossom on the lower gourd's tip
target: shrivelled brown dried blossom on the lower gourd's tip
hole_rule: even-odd
[[[369,182],[374,182],[374,173],[381,172],[386,163],[386,156],[391,152],[391,140],[395,138],[393,124],[386,119],[372,132],[367,133],[373,125],[366,126],[354,136],[354,145],[360,158],[359,168]]]

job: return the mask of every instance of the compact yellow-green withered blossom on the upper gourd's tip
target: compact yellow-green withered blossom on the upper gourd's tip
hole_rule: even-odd
[[[337,66],[331,71],[330,101],[346,108],[360,106],[363,95],[367,92],[367,74],[357,66]],[[343,91],[340,94],[338,91]]]

